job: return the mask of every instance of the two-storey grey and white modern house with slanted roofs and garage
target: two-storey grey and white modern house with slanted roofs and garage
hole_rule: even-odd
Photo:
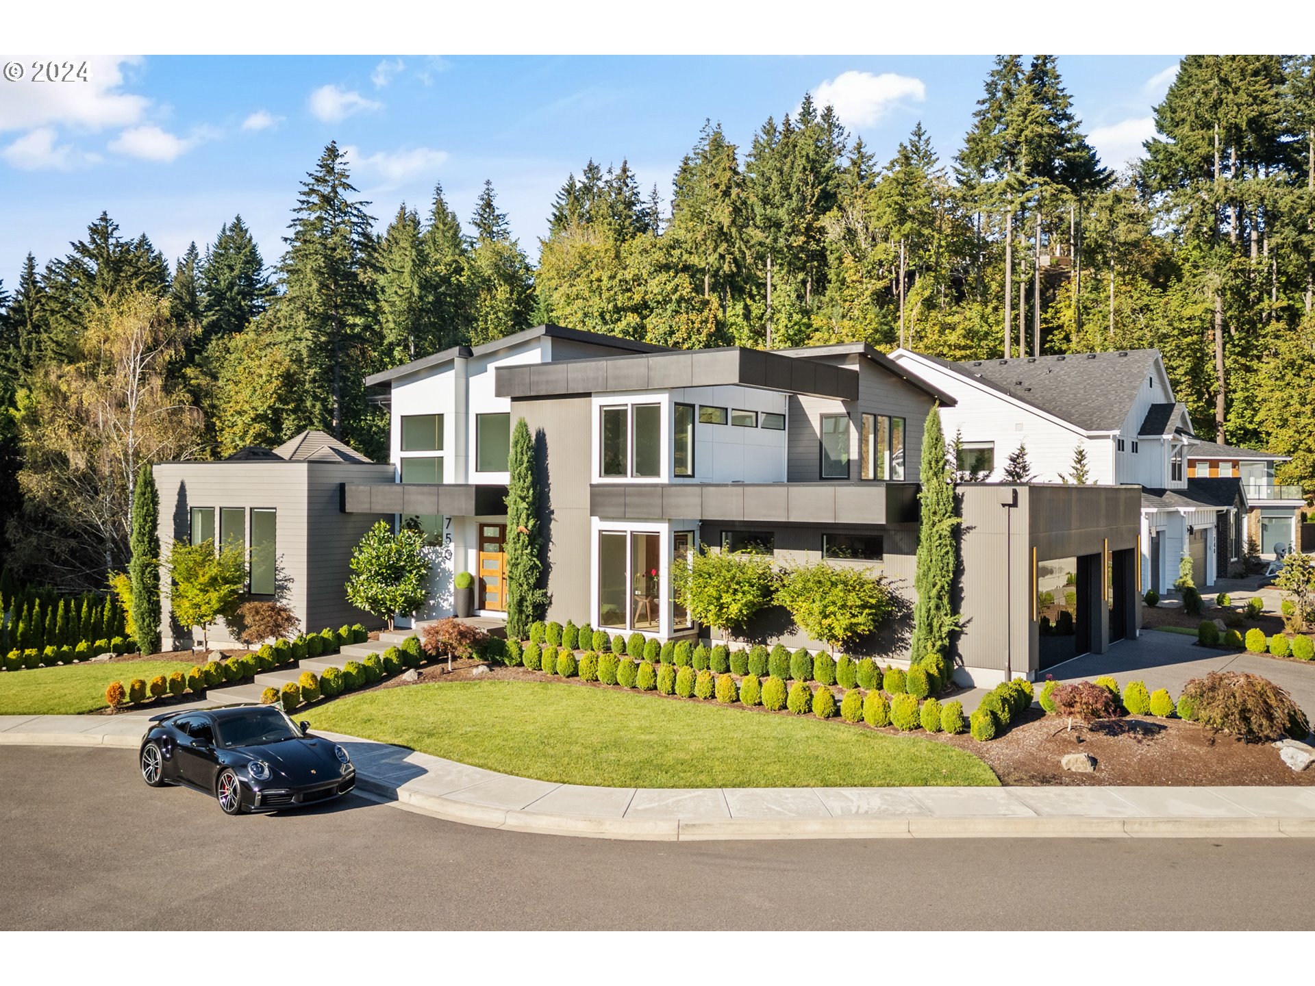
[[[907,660],[922,429],[934,406],[948,413],[956,402],[910,367],[861,343],[682,351],[538,326],[367,384],[389,409],[392,463],[345,465],[342,513],[316,523],[359,538],[387,515],[425,531],[434,565],[416,619],[452,613],[462,571],[476,576],[483,615],[505,611],[508,454],[525,418],[542,484],[550,619],[707,636],[673,598],[673,567],[694,551],[753,550],[777,564],[825,559],[885,576],[899,614],[852,649]],[[249,472],[259,464],[189,468],[226,471],[259,494],[262,476]],[[961,677],[1032,676],[1136,634],[1139,488],[967,484],[960,498]],[[191,480],[187,502],[199,502]],[[1056,557],[1068,559],[1073,621],[1066,639],[1043,640],[1038,585]],[[331,577],[341,599],[345,559]],[[822,648],[784,610],[747,634]]]

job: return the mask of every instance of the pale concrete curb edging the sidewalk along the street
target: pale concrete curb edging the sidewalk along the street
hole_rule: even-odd
[[[0,745],[135,749],[133,735],[0,732]],[[1315,816],[839,815],[594,818],[480,805],[356,773],[356,790],[392,807],[481,828],[640,841],[786,839],[1237,839],[1315,837]],[[1007,789],[1006,789],[1007,790]]]

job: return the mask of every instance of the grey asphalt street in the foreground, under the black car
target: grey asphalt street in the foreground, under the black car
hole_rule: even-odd
[[[1311,929],[1315,839],[627,843],[347,797],[227,818],[0,747],[0,929]]]

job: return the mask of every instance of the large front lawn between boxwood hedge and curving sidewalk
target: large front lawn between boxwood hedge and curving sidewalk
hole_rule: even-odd
[[[312,726],[489,770],[615,787],[998,786],[943,743],[621,689],[471,681],[346,695]]]

